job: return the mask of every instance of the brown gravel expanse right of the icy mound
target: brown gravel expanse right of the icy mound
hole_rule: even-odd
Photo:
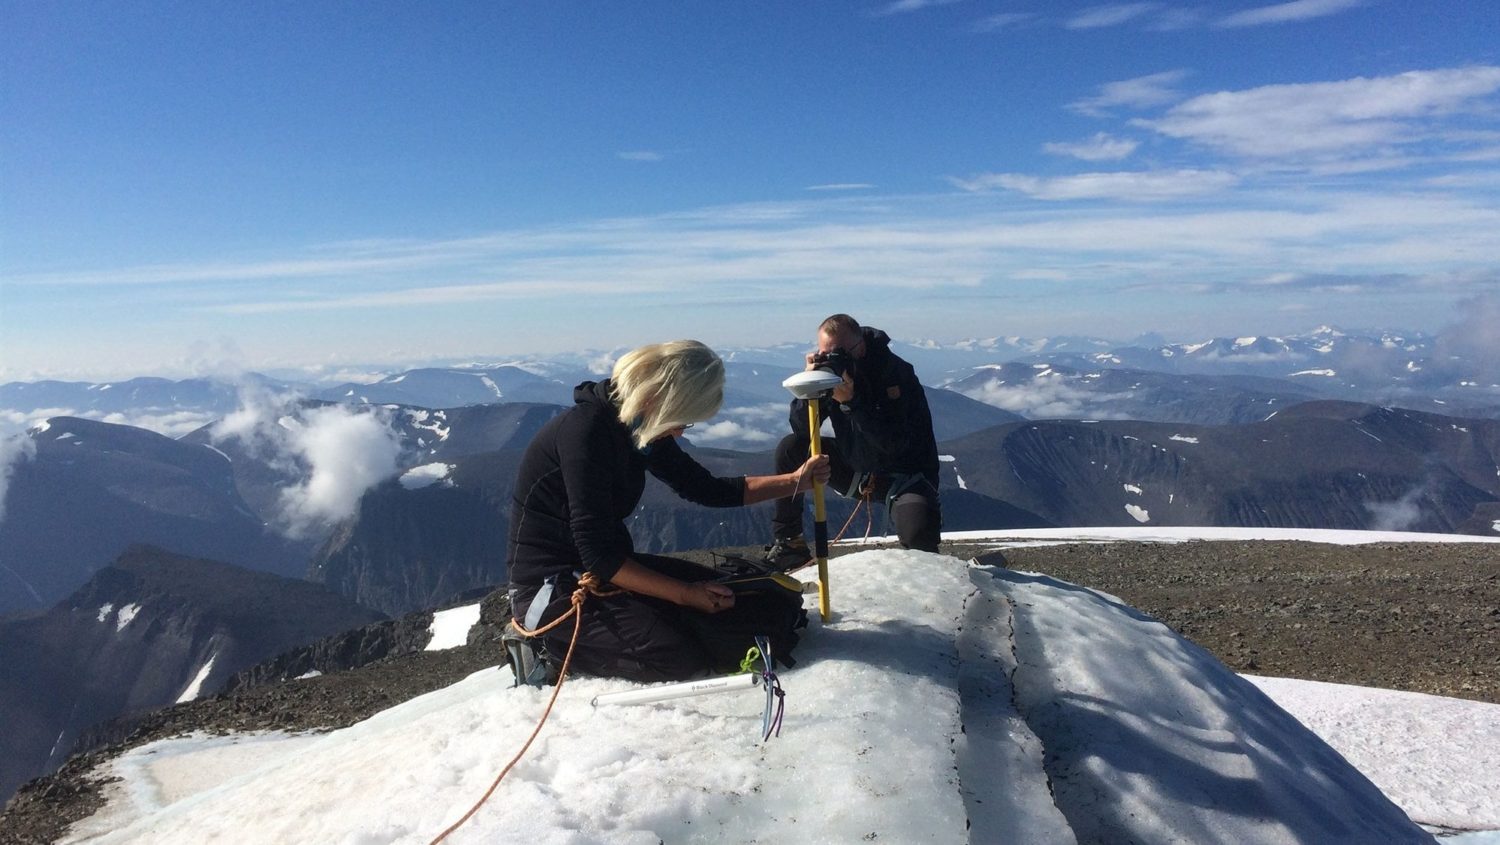
[[[1500,704],[1500,546],[1302,542],[1008,549],[1260,675]]]

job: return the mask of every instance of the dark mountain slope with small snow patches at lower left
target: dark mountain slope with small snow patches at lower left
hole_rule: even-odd
[[[304,581],[134,546],[50,611],[0,620],[0,800],[102,720],[378,618]]]

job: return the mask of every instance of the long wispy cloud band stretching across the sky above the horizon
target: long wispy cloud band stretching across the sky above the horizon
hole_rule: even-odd
[[[506,324],[514,314],[556,308],[604,324],[618,320],[621,308],[644,302],[672,302],[684,320],[696,318],[690,314],[730,320],[723,315],[742,314],[750,303],[822,311],[828,297],[854,293],[870,303],[908,302],[914,293],[1058,296],[1062,287],[1114,293],[1144,281],[1185,285],[1274,273],[1300,281],[1239,288],[1269,297],[1316,296],[1336,293],[1340,276],[1444,272],[1454,273],[1449,287],[1424,290],[1461,296],[1496,284],[1500,210],[1484,192],[1413,182],[1398,194],[1215,167],[1060,177],[990,173],[956,183],[966,191],[820,192],[796,203],[466,239],[320,245],[303,251],[318,261],[273,255],[238,269],[218,266],[228,279],[222,282],[196,279],[192,264],[158,264],[159,279],[177,281],[150,296],[156,312],[174,320],[231,314],[261,323],[306,314],[309,324],[339,326],[350,320],[321,315],[369,314],[372,321],[399,315],[404,324],[483,315]],[[357,261],[362,270],[327,276],[324,261]],[[1054,281],[1038,281],[1038,267],[1056,272]],[[70,296],[98,299],[105,291],[96,288],[111,285],[134,293],[140,276],[130,267],[98,270],[93,287]],[[1046,293],[1036,290],[1041,285]],[[626,339],[621,333],[603,342]]]

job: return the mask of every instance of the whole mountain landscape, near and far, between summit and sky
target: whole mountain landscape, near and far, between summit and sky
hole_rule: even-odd
[[[1430,338],[1329,330],[1101,344],[900,350],[930,384],[946,531],[1148,524],[1500,534],[1500,389],[1468,362],[1440,360]],[[1012,353],[1028,360],[998,360]],[[768,473],[788,428],[780,381],[800,356],[801,347],[726,353],[724,411],[686,447],[717,474]],[[0,794],[4,777],[56,759],[94,720],[170,702],[200,672],[200,689],[216,689],[324,633],[504,582],[520,455],[584,378],[588,369],[568,362],[426,368],[302,398],[258,381],[254,396],[232,402],[228,386],[200,381],[0,387],[6,402],[26,395],[64,407],[82,396],[93,404],[74,407],[110,414],[218,408],[216,422],[177,440],[51,416],[27,432],[26,450],[6,452],[16,456],[0,474],[0,717],[24,734],[15,759],[26,765],[0,771]],[[1364,393],[1402,399],[1338,398]],[[356,482],[344,516],[288,539],[278,530],[286,492],[327,479],[276,437],[322,411],[378,429],[394,471]],[[350,450],[344,429],[318,443],[346,462],[368,458]],[[849,536],[890,533],[879,503],[855,513],[852,501],[830,497],[828,519],[831,533],[846,522]],[[651,480],[630,530],[646,552],[754,546],[770,539],[770,507],[705,509]],[[128,554],[135,543],[158,549]],[[296,612],[252,623],[244,614],[273,593],[306,600],[278,599]],[[369,636],[410,645],[412,633]],[[288,657],[276,671],[316,659]],[[106,683],[84,689],[74,671]]]

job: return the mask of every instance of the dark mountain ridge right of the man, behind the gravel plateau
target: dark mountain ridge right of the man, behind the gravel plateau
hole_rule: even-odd
[[[1224,426],[1012,423],[939,449],[945,491],[1053,525],[1455,531],[1500,501],[1500,422],[1352,402]]]

